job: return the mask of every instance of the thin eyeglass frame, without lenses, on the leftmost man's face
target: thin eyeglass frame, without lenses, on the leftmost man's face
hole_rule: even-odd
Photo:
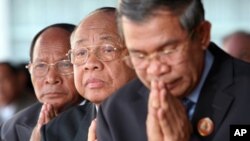
[[[46,64],[47,69],[46,69],[46,73],[44,73],[44,75],[38,76],[38,75],[35,75],[35,74],[34,74],[36,77],[44,77],[44,76],[46,76],[46,75],[48,74],[49,69],[50,69],[51,66],[55,66],[55,65],[57,65],[58,63],[60,63],[60,62],[65,62],[65,61],[69,61],[69,63],[71,64],[71,66],[72,66],[72,72],[69,72],[69,73],[60,73],[58,67],[56,67],[57,73],[60,74],[60,75],[62,75],[62,76],[73,74],[73,73],[74,73],[74,71],[73,71],[73,64],[72,64],[71,61],[68,60],[68,59],[59,60],[59,61],[56,61],[56,62],[54,62],[54,63],[47,63],[47,62],[44,62],[44,61],[41,61],[41,62],[31,62],[31,61],[30,61],[29,64],[27,64],[27,65],[25,66],[25,68],[29,70],[30,74],[33,74],[33,71],[31,70],[33,65],[39,64],[39,63],[40,63],[40,64]]]

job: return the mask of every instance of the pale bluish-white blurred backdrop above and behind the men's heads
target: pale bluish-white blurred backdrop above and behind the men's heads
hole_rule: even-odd
[[[250,31],[249,0],[203,0],[206,19],[212,23],[212,40],[236,30]],[[78,24],[89,12],[116,6],[117,0],[0,0],[0,61],[29,61],[33,36],[47,25]]]

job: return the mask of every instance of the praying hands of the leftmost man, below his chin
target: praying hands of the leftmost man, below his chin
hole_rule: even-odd
[[[57,116],[57,110],[51,105],[44,103],[40,111],[40,115],[37,121],[36,127],[33,129],[30,141],[40,141],[41,134],[40,129],[44,124],[47,124],[50,120]]]

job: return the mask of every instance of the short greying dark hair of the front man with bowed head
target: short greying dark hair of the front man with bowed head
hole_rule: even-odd
[[[142,22],[156,10],[167,10],[179,17],[181,26],[191,32],[205,19],[201,0],[120,0],[118,22],[122,16]]]

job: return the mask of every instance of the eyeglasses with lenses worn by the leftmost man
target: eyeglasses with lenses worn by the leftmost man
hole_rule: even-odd
[[[55,63],[48,64],[46,62],[34,62],[26,66],[29,72],[36,77],[45,76],[50,66],[54,66],[57,72],[61,75],[69,75],[73,73],[73,65],[70,60],[60,60]]]

